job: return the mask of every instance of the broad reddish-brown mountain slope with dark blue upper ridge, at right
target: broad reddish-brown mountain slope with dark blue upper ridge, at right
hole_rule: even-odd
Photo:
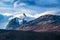
[[[60,30],[60,16],[43,15],[22,27],[16,28],[16,30],[57,31]]]

